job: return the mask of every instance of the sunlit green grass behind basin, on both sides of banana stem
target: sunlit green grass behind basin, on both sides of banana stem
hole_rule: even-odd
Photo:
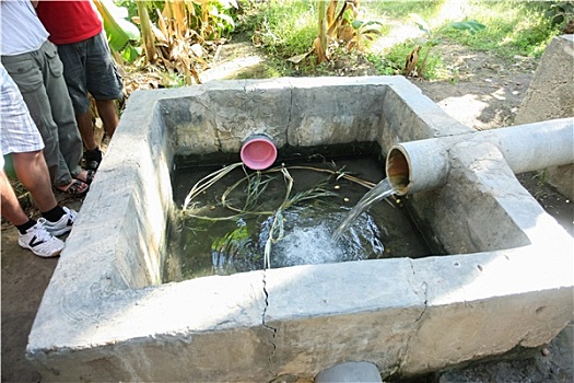
[[[455,19],[449,19],[448,12],[453,10],[453,4],[455,8],[460,7],[461,12]],[[380,21],[380,36],[384,37],[400,25],[417,28],[410,16],[417,13],[430,25],[438,45],[459,44],[470,50],[491,51],[512,60],[515,56],[541,56],[548,43],[559,34],[559,26],[552,25],[550,18],[544,15],[550,4],[551,2],[517,0],[367,0],[361,1],[359,19]],[[317,1],[270,0],[265,5],[254,3],[249,7],[253,7],[253,15],[248,18],[247,30],[254,31],[254,40],[259,42],[272,58],[285,60],[312,48],[318,32]],[[464,20],[477,20],[487,27],[476,34],[447,27],[450,22]],[[417,38],[397,40],[385,51],[377,51],[376,45],[371,44],[359,55],[363,55],[376,68],[376,74],[397,74],[401,72],[407,55],[417,45],[423,46],[421,54],[424,51],[426,37],[422,34]],[[440,49],[433,49],[427,59],[427,79],[441,80],[448,77],[448,68],[438,53]],[[342,50],[336,54],[345,55]],[[298,73],[329,74],[329,66],[316,67],[312,61],[301,62]],[[290,63],[278,63],[276,67],[277,76],[293,76],[294,69]]]

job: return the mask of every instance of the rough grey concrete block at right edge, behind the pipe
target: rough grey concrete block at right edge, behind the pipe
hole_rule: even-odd
[[[574,35],[554,37],[548,45],[514,121],[562,117],[574,117]],[[548,182],[574,200],[574,165],[550,167],[547,173]]]

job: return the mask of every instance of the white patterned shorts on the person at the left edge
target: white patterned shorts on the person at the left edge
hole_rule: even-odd
[[[0,156],[42,149],[44,141],[22,94],[0,63]]]

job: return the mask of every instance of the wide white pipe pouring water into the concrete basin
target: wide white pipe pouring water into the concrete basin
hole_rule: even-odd
[[[396,144],[386,162],[390,185],[399,196],[444,186],[448,148],[471,141],[496,146],[516,174],[566,165],[574,163],[574,118]]]

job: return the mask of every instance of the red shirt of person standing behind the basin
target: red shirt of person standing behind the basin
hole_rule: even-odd
[[[92,1],[40,0],[36,12],[54,44],[78,43],[102,32],[99,13]]]

